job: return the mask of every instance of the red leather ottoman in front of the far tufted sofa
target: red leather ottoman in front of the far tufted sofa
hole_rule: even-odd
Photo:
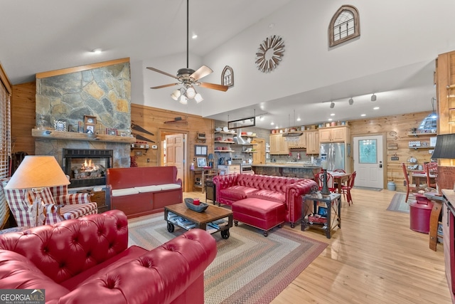
[[[240,199],[232,203],[232,215],[235,226],[241,221],[247,225],[264,230],[267,236],[274,226],[282,227],[286,219],[286,206],[265,199]]]

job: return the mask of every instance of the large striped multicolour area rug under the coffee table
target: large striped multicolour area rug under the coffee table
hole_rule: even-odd
[[[129,245],[146,249],[183,234],[176,227],[169,233],[164,214],[128,221]],[[298,228],[296,228],[298,229]],[[205,270],[205,303],[270,303],[327,244],[275,228],[264,237],[258,229],[239,223],[230,229],[229,239],[213,234],[218,254]]]

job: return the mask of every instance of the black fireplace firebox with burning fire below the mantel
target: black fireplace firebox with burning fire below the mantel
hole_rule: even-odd
[[[113,162],[113,150],[63,149],[63,171],[70,177],[69,188],[102,186]]]

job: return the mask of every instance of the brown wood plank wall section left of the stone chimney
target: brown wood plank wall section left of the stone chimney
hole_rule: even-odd
[[[36,125],[36,82],[13,85],[11,94],[11,153],[35,154],[35,140],[31,130]]]

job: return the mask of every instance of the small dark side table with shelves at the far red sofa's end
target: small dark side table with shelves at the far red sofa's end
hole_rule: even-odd
[[[326,206],[327,210],[327,224],[309,223],[308,219],[305,219],[309,212],[311,205],[306,204],[306,201],[313,201],[313,213],[317,213],[321,205]],[[333,211],[333,214],[332,214]],[[301,231],[305,231],[307,227],[322,229],[326,231],[327,239],[331,238],[331,232],[333,228],[338,226],[341,228],[341,194],[331,193],[330,196],[315,196],[314,194],[308,194],[302,196],[301,202]]]

